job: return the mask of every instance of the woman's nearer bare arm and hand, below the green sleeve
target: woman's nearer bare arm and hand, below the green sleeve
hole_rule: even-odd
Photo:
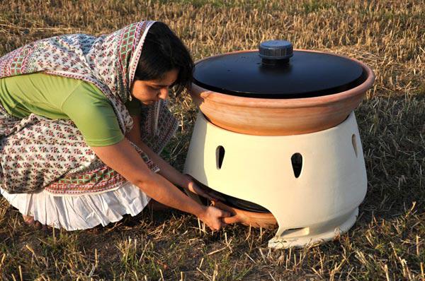
[[[200,205],[164,177],[152,172],[127,138],[115,145],[92,147],[92,149],[103,163],[159,203],[196,215],[213,230],[225,225],[221,217],[227,217],[229,215],[227,212]]]

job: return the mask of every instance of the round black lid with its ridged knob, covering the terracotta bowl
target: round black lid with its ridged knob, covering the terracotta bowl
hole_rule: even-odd
[[[293,51],[288,41],[268,41],[259,52],[235,52],[199,61],[201,87],[228,95],[300,98],[331,95],[365,80],[361,65],[333,54]]]

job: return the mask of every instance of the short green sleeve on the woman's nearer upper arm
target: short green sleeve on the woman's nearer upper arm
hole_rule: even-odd
[[[123,140],[111,102],[94,85],[81,83],[62,103],[89,146],[114,145]]]

